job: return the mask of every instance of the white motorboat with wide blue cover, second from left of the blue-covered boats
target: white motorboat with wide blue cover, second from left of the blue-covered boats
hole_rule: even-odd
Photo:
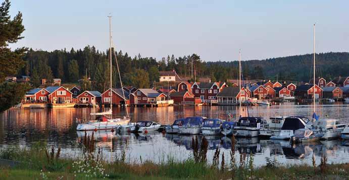
[[[205,117],[188,117],[178,127],[179,134],[200,134]]]

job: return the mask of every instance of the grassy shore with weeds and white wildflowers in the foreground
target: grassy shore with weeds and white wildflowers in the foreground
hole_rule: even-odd
[[[196,142],[195,142],[196,141]],[[205,140],[204,140],[205,141]],[[90,145],[90,144],[89,144]],[[193,140],[193,156],[184,161],[174,158],[155,163],[126,162],[121,154],[113,162],[101,159],[101,151],[86,148],[81,157],[61,158],[60,149],[36,143],[29,148],[9,146],[0,150],[0,158],[17,160],[22,163],[14,167],[0,165],[0,179],[348,179],[349,163],[327,164],[323,157],[321,164],[282,165],[276,159],[266,159],[265,166],[253,165],[253,154],[241,154],[231,162],[209,164],[205,145],[197,146]],[[234,148],[232,148],[234,150]],[[195,156],[194,156],[195,154]],[[227,154],[224,154],[227,155]],[[216,156],[220,159],[223,153]],[[229,154],[228,154],[229,155]],[[170,157],[170,156],[169,156]],[[200,157],[200,158],[198,158]],[[230,157],[231,158],[231,157]],[[235,164],[235,159],[242,162]],[[141,157],[140,157],[141,159]]]

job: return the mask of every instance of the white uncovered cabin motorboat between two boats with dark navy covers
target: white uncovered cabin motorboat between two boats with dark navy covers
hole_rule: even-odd
[[[269,120],[270,122],[260,129],[259,131],[260,137],[277,136],[280,134],[285,118],[282,116],[270,117]]]

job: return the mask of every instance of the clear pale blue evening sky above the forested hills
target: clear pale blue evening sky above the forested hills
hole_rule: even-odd
[[[349,1],[11,1],[24,39],[11,48],[109,48],[131,57],[196,53],[204,61],[266,59],[349,51]]]

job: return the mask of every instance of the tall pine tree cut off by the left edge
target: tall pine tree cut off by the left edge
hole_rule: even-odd
[[[18,12],[11,20],[10,7],[9,0],[5,0],[0,6],[0,112],[18,104],[29,88],[28,84],[4,82],[6,76],[17,74],[24,66],[22,57],[27,50],[24,47],[14,51],[8,48],[9,43],[16,43],[23,38],[21,34],[24,31],[22,13]]]

